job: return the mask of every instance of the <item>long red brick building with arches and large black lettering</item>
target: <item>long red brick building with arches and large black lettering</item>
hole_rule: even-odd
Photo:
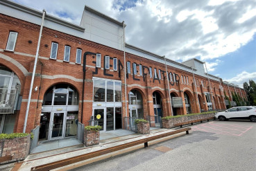
[[[11,1],[0,8],[1,132],[40,126],[40,140],[51,140],[89,120],[104,131],[129,129],[130,118],[157,127],[162,116],[226,109],[224,91],[247,100],[244,89],[205,73],[204,62],[165,61],[126,44],[123,22],[85,6],[80,26],[46,13],[24,124],[43,12]]]

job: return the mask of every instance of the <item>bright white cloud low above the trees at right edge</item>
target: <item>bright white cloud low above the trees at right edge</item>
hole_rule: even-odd
[[[256,82],[256,72],[253,73],[248,73],[246,71],[243,71],[241,73],[239,73],[237,76],[235,76],[234,78],[231,79],[223,79],[226,80],[228,82],[232,82],[234,84],[238,84],[239,87],[243,87],[244,82],[249,82],[249,80],[254,80]]]

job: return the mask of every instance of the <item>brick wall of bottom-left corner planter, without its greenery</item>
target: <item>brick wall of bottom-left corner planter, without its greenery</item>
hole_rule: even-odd
[[[22,161],[28,156],[29,147],[31,146],[31,135],[0,140],[0,156],[12,156],[9,161],[3,161],[3,163],[9,163],[13,161]]]

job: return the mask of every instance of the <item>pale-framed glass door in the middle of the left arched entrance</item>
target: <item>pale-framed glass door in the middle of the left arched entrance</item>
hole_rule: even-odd
[[[51,114],[50,122],[50,138],[49,139],[58,139],[64,138],[65,135],[65,111],[53,111]]]

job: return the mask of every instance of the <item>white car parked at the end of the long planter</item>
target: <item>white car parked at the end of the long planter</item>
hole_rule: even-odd
[[[256,107],[232,107],[226,111],[216,113],[215,118],[221,121],[228,119],[250,119],[250,121],[256,122]]]

